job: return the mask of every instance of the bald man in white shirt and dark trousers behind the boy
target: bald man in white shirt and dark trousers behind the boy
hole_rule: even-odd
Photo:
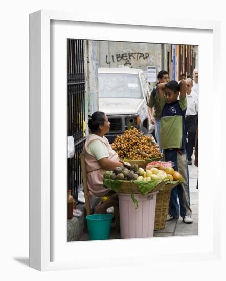
[[[191,78],[186,79],[187,93],[187,110],[185,113],[185,132],[188,134],[188,142],[186,144],[186,153],[188,157],[188,165],[192,165],[193,147],[195,146],[196,129],[198,125],[198,95],[192,91],[193,81]]]

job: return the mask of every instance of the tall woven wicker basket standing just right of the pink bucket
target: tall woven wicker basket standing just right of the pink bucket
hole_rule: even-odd
[[[178,185],[166,184],[164,190],[160,190],[157,193],[156,207],[155,207],[155,220],[154,220],[154,230],[160,230],[166,226],[166,218],[169,211],[169,201],[172,188]]]

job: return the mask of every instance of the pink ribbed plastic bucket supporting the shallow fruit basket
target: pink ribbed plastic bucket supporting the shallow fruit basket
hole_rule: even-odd
[[[129,193],[118,194],[121,238],[153,237],[157,193],[134,194],[137,209]]]

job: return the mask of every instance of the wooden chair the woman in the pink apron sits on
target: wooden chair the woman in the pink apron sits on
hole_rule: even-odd
[[[81,169],[82,169],[82,181],[83,181],[83,191],[85,196],[85,209],[86,214],[91,214],[91,206],[90,206],[90,200],[89,200],[89,189],[87,185],[87,178],[86,178],[86,168],[85,168],[85,156],[83,153],[80,153],[80,159],[81,159]],[[108,196],[106,194],[105,196]],[[120,222],[119,222],[119,205],[114,206],[114,216],[116,221],[116,229],[120,231]]]

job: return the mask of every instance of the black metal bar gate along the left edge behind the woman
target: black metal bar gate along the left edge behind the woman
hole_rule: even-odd
[[[78,199],[82,184],[80,153],[85,142],[84,41],[67,39],[67,135],[74,137],[75,155],[67,160],[67,190]]]

